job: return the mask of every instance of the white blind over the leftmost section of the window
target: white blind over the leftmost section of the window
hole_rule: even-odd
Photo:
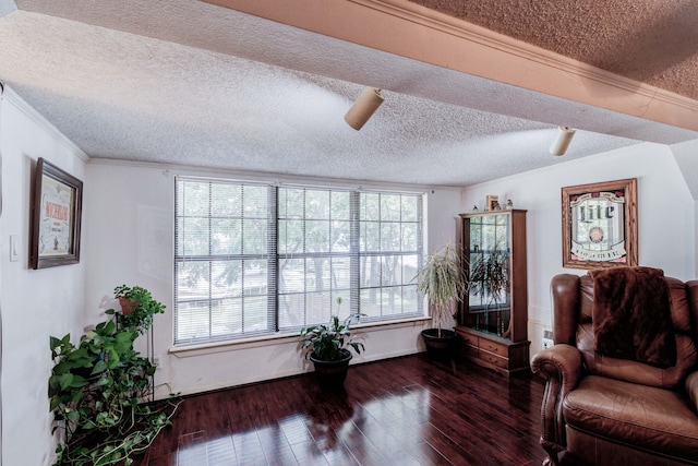
[[[174,343],[275,332],[274,190],[179,178]]]

